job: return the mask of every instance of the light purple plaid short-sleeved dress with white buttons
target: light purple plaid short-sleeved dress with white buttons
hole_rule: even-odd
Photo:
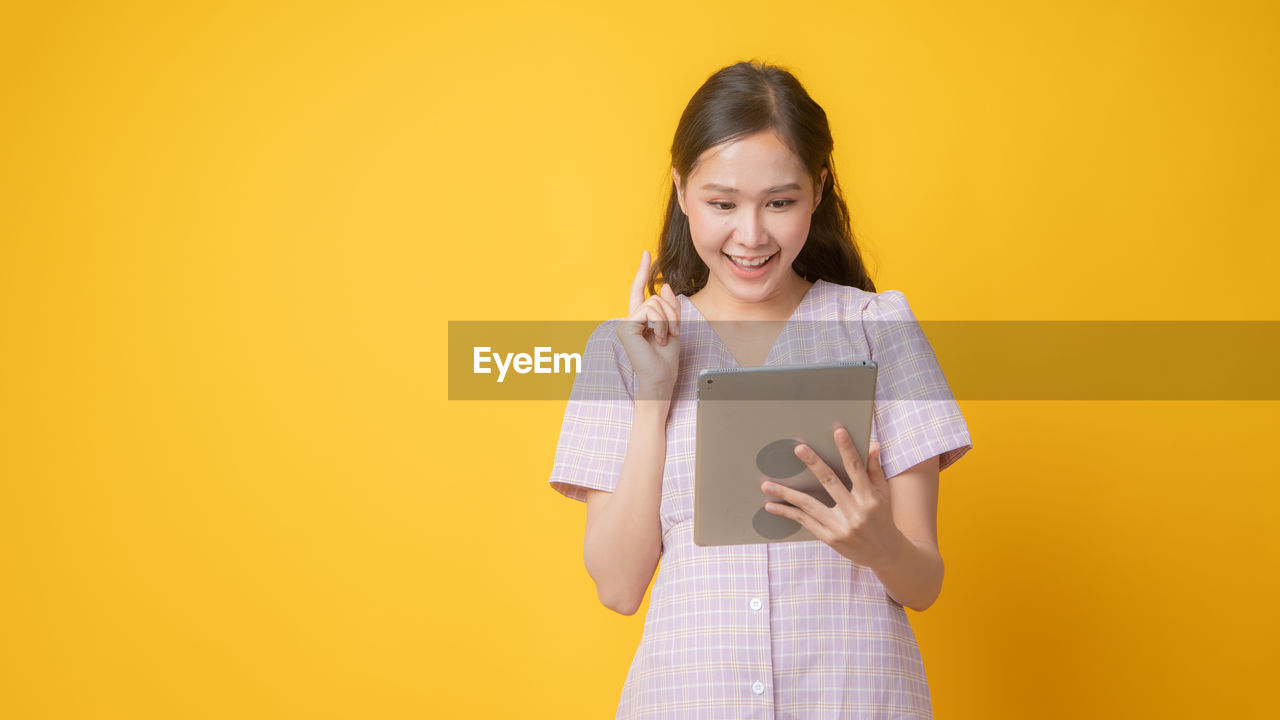
[[[696,378],[737,366],[684,295],[680,377],[667,420],[662,561],[644,634],[622,685],[620,719],[932,717],[929,687],[904,607],[876,574],[822,542],[694,544]],[[622,471],[635,375],[600,324],[564,410],[550,484],[585,500]],[[765,365],[876,360],[872,439],[886,478],[970,447],[946,378],[899,291],[817,281]],[[892,482],[892,480],[891,480]]]

